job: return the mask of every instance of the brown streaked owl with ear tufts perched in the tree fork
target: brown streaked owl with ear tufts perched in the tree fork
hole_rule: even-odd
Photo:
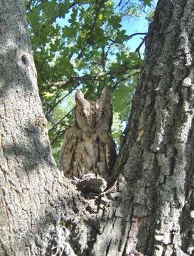
[[[60,150],[59,166],[68,178],[95,174],[106,179],[117,157],[112,139],[112,97],[107,87],[96,101],[75,93],[75,124],[67,129]]]

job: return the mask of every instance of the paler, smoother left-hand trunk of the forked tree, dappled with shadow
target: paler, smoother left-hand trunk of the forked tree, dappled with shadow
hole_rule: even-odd
[[[41,255],[68,184],[50,152],[23,1],[0,10],[0,255]]]

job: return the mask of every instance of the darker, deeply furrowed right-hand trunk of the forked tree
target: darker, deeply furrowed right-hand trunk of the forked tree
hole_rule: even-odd
[[[116,166],[129,197],[121,255],[194,254],[193,8],[190,0],[158,1],[149,28]]]

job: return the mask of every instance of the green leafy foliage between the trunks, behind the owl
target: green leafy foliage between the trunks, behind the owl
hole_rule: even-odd
[[[139,7],[129,2],[127,11],[116,11],[112,0],[26,0],[25,4],[55,159],[65,129],[73,123],[78,87],[95,100],[108,85],[115,113],[113,135],[119,142],[142,63],[139,48],[132,53],[126,47],[131,37],[122,28],[122,18],[139,16],[151,0],[141,0]]]

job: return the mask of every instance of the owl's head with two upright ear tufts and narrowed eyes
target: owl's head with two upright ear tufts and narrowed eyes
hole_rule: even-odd
[[[96,101],[86,100],[80,90],[75,93],[75,125],[86,132],[107,130],[112,126],[112,98],[107,87]]]

